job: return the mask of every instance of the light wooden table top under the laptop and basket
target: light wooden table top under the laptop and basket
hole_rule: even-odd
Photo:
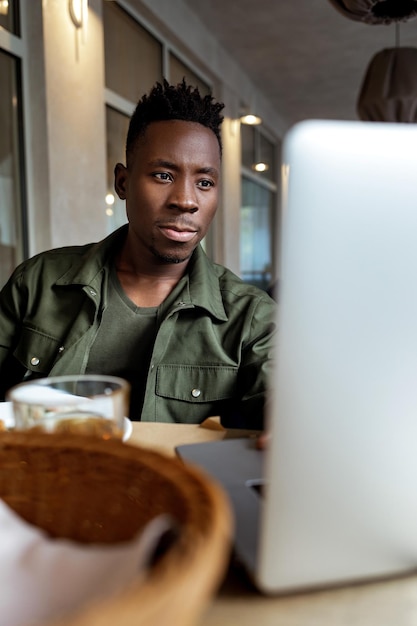
[[[226,431],[211,418],[201,426],[134,423],[130,442],[174,455],[179,444],[249,435],[248,431]],[[232,563],[201,626],[417,626],[417,575],[265,597]]]

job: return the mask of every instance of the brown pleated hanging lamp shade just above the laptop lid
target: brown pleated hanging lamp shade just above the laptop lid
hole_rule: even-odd
[[[357,112],[363,121],[417,122],[417,48],[388,48],[371,59]]]

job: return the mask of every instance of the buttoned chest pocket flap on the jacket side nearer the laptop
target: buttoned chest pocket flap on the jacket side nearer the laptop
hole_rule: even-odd
[[[224,365],[159,365],[156,395],[202,404],[232,398],[237,390],[238,368]]]

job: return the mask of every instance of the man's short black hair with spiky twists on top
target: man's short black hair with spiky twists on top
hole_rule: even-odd
[[[187,85],[185,79],[178,85],[170,85],[166,79],[163,83],[156,83],[149,94],[145,94],[138,102],[129,122],[126,138],[126,160],[133,154],[138,137],[145,133],[152,122],[165,120],[184,120],[198,122],[210,130],[217,137],[220,154],[222,140],[220,126],[224,108],[222,102],[215,102],[213,96],[201,96],[197,87]]]

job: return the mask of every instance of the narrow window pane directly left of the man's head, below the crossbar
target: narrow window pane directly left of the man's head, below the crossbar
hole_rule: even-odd
[[[129,117],[106,107],[107,133],[107,195],[105,200],[107,232],[111,233],[119,226],[126,224],[126,205],[114,191],[114,166],[126,163],[125,143]]]

